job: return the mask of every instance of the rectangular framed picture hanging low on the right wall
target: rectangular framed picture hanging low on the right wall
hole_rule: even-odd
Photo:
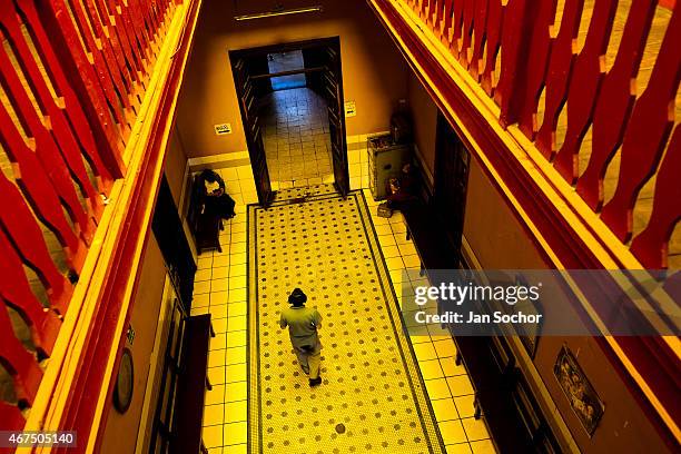
[[[601,417],[603,417],[605,405],[601,402],[591,382],[584,375],[584,371],[566,346],[563,346],[559,352],[553,366],[553,374],[561,385],[561,389],[565,393],[572,411],[582,423],[582,427],[589,436],[593,435]]]

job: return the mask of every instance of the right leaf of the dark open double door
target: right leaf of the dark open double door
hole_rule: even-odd
[[[342,80],[339,45],[335,43],[327,46],[323,83],[325,98],[328,105],[332,165],[334,168],[336,190],[345,197],[347,193],[349,193],[349,174],[347,168],[345,108],[343,102]]]

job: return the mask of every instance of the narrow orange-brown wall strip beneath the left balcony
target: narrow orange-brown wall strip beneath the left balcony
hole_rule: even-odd
[[[164,257],[152,234],[145,248],[139,286],[135,294],[130,326],[135,330],[132,344],[126,340],[130,348],[134,364],[135,387],[130,407],[124,414],[118,413],[111,401],[106,428],[102,435],[102,454],[134,453],[137,441],[137,430],[141,420],[147,377],[149,375],[150,357],[160,312],[160,304],[166,278]],[[116,379],[115,372],[111,379]]]

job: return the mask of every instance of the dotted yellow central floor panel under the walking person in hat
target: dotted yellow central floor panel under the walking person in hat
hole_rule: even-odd
[[[322,191],[267,210],[251,206],[248,220],[251,446],[443,452],[362,194],[343,200]],[[323,385],[313,389],[278,327],[295,287],[323,318]]]

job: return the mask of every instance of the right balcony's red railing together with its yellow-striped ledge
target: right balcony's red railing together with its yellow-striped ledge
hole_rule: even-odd
[[[547,266],[669,268],[665,289],[675,293],[681,8],[673,0],[367,2]],[[660,296],[655,307],[669,300]],[[608,310],[590,300],[576,308],[594,322]],[[596,342],[679,443],[679,338]]]

